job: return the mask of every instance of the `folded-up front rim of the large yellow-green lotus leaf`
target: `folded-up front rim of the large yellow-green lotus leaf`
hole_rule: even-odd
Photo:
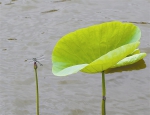
[[[53,74],[57,76],[66,76],[69,74],[76,73],[78,71],[86,72],[86,73],[97,73],[102,72],[114,64],[116,64],[121,59],[125,58],[127,55],[131,54],[136,47],[138,47],[139,42],[127,44],[121,46],[115,50],[108,52],[107,54],[101,56],[100,58],[94,60],[90,64],[79,64],[74,66],[69,66],[67,68],[63,67],[64,63],[57,62],[53,66]],[[60,66],[61,65],[61,66]]]

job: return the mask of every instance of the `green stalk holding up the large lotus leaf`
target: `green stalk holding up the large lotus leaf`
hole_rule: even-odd
[[[105,73],[104,71],[102,71],[102,115],[106,115],[105,101],[106,101]]]

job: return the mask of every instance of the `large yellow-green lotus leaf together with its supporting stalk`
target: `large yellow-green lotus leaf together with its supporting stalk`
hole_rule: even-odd
[[[106,115],[105,73],[109,68],[133,64],[146,56],[136,49],[140,29],[132,23],[106,22],[63,36],[52,52],[52,72],[67,76],[78,71],[102,73],[102,115]]]

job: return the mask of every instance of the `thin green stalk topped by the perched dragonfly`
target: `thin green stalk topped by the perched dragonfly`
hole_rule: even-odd
[[[34,62],[35,80],[36,80],[36,115],[39,115],[39,90],[38,90],[38,76],[37,76],[37,64]]]

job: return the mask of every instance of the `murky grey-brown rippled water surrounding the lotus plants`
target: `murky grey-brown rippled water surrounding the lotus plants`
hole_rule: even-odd
[[[101,74],[52,74],[51,53],[65,34],[105,21],[134,22],[147,57],[107,71],[107,115],[150,113],[149,0],[0,0],[0,115],[35,115],[33,65],[38,68],[41,115],[100,115]]]

